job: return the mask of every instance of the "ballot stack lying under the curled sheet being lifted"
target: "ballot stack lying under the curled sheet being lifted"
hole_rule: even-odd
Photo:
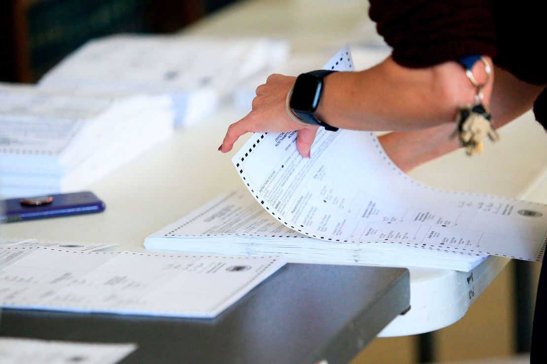
[[[144,246],[196,253],[283,254],[289,262],[427,267],[465,272],[487,256],[405,244],[315,239],[277,222],[245,190],[208,202],[148,236]]]

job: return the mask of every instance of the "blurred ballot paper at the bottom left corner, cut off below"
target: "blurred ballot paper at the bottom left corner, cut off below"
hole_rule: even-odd
[[[2,337],[0,338],[0,362],[3,364],[114,364],[136,349],[136,344],[79,343]]]

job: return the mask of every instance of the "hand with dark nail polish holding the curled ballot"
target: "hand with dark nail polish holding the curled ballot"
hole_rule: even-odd
[[[296,77],[292,76],[270,75],[264,85],[258,86],[252,111],[228,127],[218,150],[223,153],[231,151],[237,139],[245,133],[282,133],[298,130],[296,149],[302,157],[310,157],[310,148],[318,127],[295,122],[285,109],[287,93],[295,80]]]

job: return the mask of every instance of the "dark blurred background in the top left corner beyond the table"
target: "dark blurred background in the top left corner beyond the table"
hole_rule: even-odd
[[[3,0],[0,81],[37,81],[89,39],[178,31],[233,1]]]

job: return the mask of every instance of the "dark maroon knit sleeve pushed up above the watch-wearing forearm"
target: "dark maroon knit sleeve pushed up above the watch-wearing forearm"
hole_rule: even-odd
[[[405,67],[427,67],[467,55],[495,57],[491,4],[485,0],[370,0],[370,18]]]

